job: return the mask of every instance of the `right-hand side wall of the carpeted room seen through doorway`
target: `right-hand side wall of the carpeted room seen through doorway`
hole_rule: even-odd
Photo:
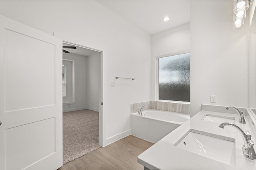
[[[87,57],[86,65],[87,95],[86,106],[90,110],[99,111],[100,106],[100,53]]]

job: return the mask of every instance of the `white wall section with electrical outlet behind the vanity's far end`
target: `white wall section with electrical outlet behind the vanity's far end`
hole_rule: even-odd
[[[249,23],[233,29],[232,18],[233,1],[190,2],[192,116],[201,104],[248,107]]]

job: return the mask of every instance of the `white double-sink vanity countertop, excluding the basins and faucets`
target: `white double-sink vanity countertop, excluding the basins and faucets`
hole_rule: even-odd
[[[256,170],[256,160],[248,159],[243,155],[242,146],[244,145],[244,141],[239,131],[231,126],[225,126],[222,129],[218,127],[220,123],[202,120],[205,115],[209,114],[235,117],[234,124],[238,125],[244,132],[250,131],[252,135],[248,123],[238,123],[238,114],[200,111],[190,120],[172,131],[172,133],[166,135],[166,137],[140,154],[138,156],[138,162],[150,170]],[[247,119],[245,120],[248,121]],[[190,129],[234,139],[236,146],[234,166],[175,147],[174,144]],[[256,143],[254,136],[252,136],[252,141]],[[256,150],[256,146],[254,146],[254,149]]]

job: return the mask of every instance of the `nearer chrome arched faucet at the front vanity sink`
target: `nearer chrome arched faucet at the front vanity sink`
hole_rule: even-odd
[[[249,131],[246,131],[246,133],[244,133],[244,131],[240,127],[238,127],[237,125],[235,125],[233,123],[227,123],[227,122],[221,123],[219,125],[219,127],[224,129],[224,126],[226,126],[226,125],[230,125],[232,127],[235,127],[240,132],[240,134],[242,135],[242,138],[244,140],[244,146],[242,147],[244,156],[246,158],[256,160],[256,153],[255,153],[255,150],[253,148],[254,142],[251,140],[252,135],[250,135]]]

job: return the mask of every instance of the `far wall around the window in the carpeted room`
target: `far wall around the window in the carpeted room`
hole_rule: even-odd
[[[86,106],[86,65],[87,58],[82,55],[63,53],[63,59],[73,60],[75,65],[75,103],[63,105],[63,112],[87,109]],[[68,77],[67,77],[68,79]],[[63,100],[65,102],[65,100]]]

